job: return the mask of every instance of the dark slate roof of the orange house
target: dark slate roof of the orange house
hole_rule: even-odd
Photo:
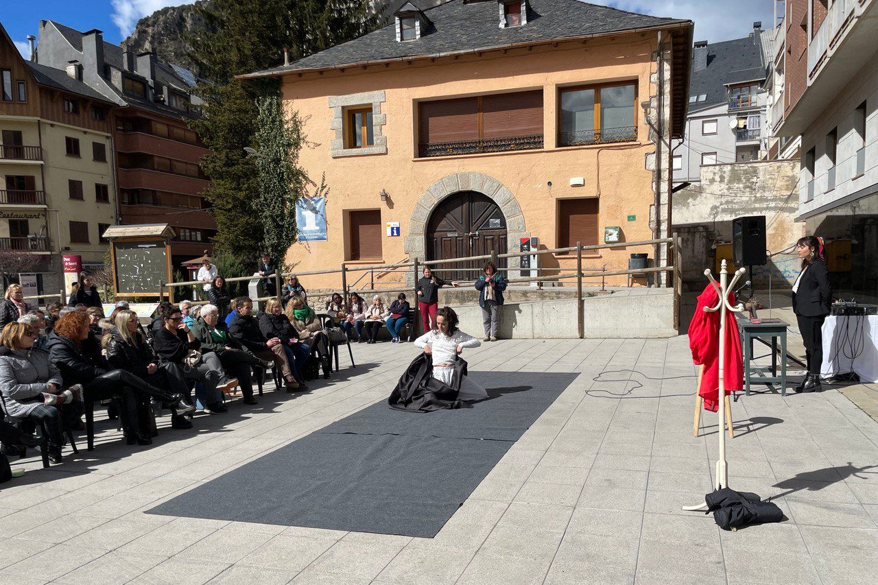
[[[332,69],[371,61],[459,54],[510,45],[581,38],[675,24],[691,24],[678,18],[651,17],[579,0],[529,0],[527,24],[500,28],[497,2],[450,0],[423,13],[432,25],[420,39],[396,40],[395,22],[377,31],[329,47],[290,65],[257,71],[241,77],[273,76],[309,69]]]

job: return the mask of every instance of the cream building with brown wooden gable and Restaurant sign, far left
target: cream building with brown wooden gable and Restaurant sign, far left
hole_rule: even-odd
[[[26,61],[0,25],[0,249],[36,256],[39,293],[61,290],[61,256],[104,264],[116,220],[111,100],[76,64]]]

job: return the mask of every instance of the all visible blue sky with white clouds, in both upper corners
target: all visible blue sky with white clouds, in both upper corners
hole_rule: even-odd
[[[770,28],[774,0],[592,0],[626,11],[656,16],[691,18],[695,22],[695,40],[737,39],[752,30],[752,23],[762,21]],[[137,20],[164,6],[189,4],[180,0],[2,0],[0,22],[12,40],[26,51],[28,34],[36,34],[40,19],[58,22],[88,31],[104,31],[104,39],[119,43],[133,30]],[[781,3],[782,7],[782,3]],[[782,8],[781,8],[782,12]]]

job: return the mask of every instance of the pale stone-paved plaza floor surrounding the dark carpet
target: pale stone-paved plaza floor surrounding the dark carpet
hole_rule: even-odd
[[[776,495],[788,520],[727,532],[680,509],[711,489],[717,451],[716,415],[693,437],[685,336],[466,350],[471,371],[579,376],[435,538],[144,512],[385,400],[416,353],[411,343],[354,351],[356,369],[342,356],[332,383],[307,394],[234,401],[188,431],[162,417],[149,447],[120,444],[103,421],[95,451],[82,440],[78,457],[48,470],[26,460],[25,477],[0,490],[0,583],[802,585],[878,574],[878,423],[834,389],[732,406],[730,487]],[[259,498],[241,493],[241,507]]]

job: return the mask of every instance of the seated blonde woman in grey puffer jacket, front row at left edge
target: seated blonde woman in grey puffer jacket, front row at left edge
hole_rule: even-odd
[[[83,414],[82,386],[61,389],[61,372],[49,362],[46,351],[32,348],[33,334],[25,323],[8,323],[0,343],[0,388],[6,412],[45,425],[49,456],[61,463],[64,429],[73,428]]]

